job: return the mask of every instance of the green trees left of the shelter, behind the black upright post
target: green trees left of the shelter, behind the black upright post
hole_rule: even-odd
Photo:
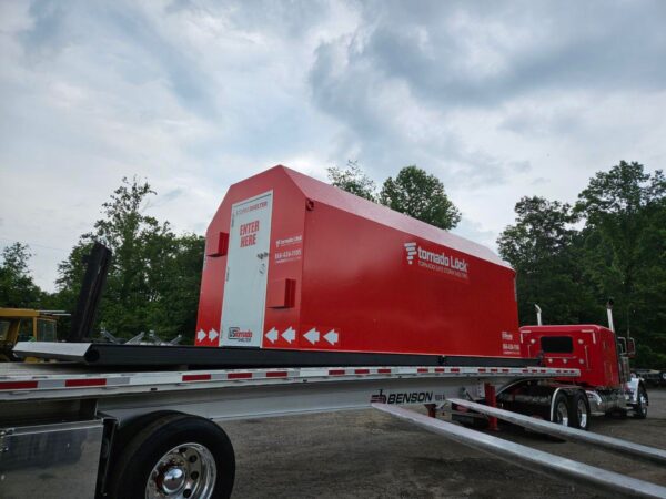
[[[148,182],[122,180],[94,230],[80,237],[59,266],[63,306],[72,309],[85,272],[83,255],[92,243],[105,244],[113,257],[98,323],[121,337],[155,330],[170,338],[192,337],[201,279],[203,237],[176,236],[168,222],[147,215]]]

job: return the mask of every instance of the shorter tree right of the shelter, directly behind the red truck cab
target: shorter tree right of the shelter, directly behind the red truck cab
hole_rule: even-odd
[[[579,262],[576,215],[571,205],[543,197],[523,197],[516,223],[497,240],[500,255],[516,271],[518,316],[534,324],[534,304],[547,324],[589,320],[603,310],[586,292]]]

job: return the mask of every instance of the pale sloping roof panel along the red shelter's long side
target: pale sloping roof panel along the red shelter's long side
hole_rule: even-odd
[[[413,234],[416,237],[431,241],[435,244],[441,244],[452,249],[511,268],[508,263],[504,262],[490,248],[478,243],[456,236],[447,231],[412,218],[411,216],[395,212],[386,206],[373,203],[372,201],[364,200],[339,187],[326,184],[325,182],[317,181],[311,176],[287,169],[286,166],[278,165],[275,169],[283,170],[303,194],[313,201],[335,206],[354,215],[372,220],[379,224],[396,228],[407,234]]]

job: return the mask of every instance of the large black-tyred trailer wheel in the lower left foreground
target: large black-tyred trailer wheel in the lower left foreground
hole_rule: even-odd
[[[233,447],[222,428],[171,414],[150,422],[121,450],[109,491],[127,499],[228,498],[234,475]]]

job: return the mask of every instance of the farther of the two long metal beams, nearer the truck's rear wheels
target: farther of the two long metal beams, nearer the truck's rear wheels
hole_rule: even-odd
[[[524,428],[529,428],[534,431],[552,435],[554,437],[561,437],[566,440],[592,444],[597,447],[603,447],[607,450],[612,450],[614,452],[618,452],[622,455],[632,455],[648,461],[658,462],[660,465],[666,464],[666,450],[664,449],[643,446],[640,444],[634,444],[632,441],[622,440],[619,438],[606,437],[605,435],[592,434],[589,431],[581,430],[578,428],[569,428],[567,426],[556,425],[554,422],[544,421],[542,419],[536,419],[531,416],[512,413],[511,410],[484,406],[483,404],[477,404],[470,400],[451,398],[448,399],[448,401],[458,406],[467,407],[468,409],[475,410],[477,413],[485,414],[486,416],[496,417],[498,419],[513,422],[514,425],[518,425]]]

